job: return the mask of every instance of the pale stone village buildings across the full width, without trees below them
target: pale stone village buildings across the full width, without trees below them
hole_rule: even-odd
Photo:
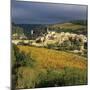
[[[31,34],[33,34],[33,30],[31,30]],[[19,41],[14,41],[16,39],[18,39]],[[61,45],[65,41],[71,41],[71,42],[77,41],[77,42],[81,43],[80,51],[84,50],[84,45],[85,45],[85,43],[87,43],[87,37],[83,34],[78,35],[78,34],[69,33],[69,32],[57,33],[55,31],[49,31],[48,29],[47,29],[47,34],[38,36],[32,42],[30,42],[30,40],[28,40],[28,38],[24,34],[19,35],[19,36],[18,36],[18,34],[13,34],[12,43],[18,44],[18,43],[22,42],[20,40],[24,40],[23,43],[26,43],[27,45],[34,45],[34,46],[47,46],[48,44],[55,44],[55,43],[57,43],[58,45]],[[27,40],[27,41],[25,41],[25,40]],[[70,43],[69,43],[69,45],[70,45]]]

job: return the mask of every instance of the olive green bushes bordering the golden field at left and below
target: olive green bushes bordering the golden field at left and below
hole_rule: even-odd
[[[29,49],[28,47],[26,48]],[[37,49],[35,47],[31,48],[33,49],[32,53],[34,49]],[[33,58],[31,54],[21,51],[20,48],[15,45],[12,46],[13,90],[15,88],[40,88],[87,84],[87,67],[84,64],[84,66],[81,65],[82,63],[80,64],[82,68],[79,68],[78,65],[77,67],[43,68],[42,66],[38,66],[39,62],[36,58]],[[84,61],[82,62],[84,63]]]

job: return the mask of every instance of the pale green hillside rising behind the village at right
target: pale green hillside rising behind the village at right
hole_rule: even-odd
[[[48,26],[49,30],[55,30],[57,32],[73,32],[77,34],[87,34],[87,26],[80,25],[73,22],[67,22],[62,24],[53,24]]]

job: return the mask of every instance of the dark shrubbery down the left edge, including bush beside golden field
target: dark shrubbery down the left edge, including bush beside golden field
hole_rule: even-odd
[[[18,76],[19,67],[33,67],[35,65],[34,63],[35,60],[31,58],[30,54],[20,52],[16,45],[12,45],[12,90],[16,90],[18,79],[22,76],[22,74]]]

